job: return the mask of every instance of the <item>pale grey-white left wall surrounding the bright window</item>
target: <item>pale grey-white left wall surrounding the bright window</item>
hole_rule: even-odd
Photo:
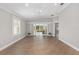
[[[14,15],[0,9],[0,49],[25,35],[26,23],[21,19],[21,34],[13,36],[12,17]],[[19,18],[19,17],[18,17]]]

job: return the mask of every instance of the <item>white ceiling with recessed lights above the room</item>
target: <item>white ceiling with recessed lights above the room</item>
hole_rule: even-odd
[[[23,18],[51,18],[57,16],[68,3],[55,5],[55,3],[0,3],[0,7],[14,12]]]

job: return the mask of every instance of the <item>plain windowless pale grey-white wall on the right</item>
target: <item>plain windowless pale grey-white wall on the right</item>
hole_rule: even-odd
[[[59,39],[79,49],[79,4],[70,4],[59,16]]]

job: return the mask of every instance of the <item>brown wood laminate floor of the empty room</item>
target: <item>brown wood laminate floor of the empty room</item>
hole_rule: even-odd
[[[25,37],[0,52],[0,55],[79,55],[79,52],[54,37]]]

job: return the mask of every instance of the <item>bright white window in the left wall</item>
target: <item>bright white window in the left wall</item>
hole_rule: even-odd
[[[21,33],[20,20],[17,18],[13,19],[13,34],[18,35]]]

